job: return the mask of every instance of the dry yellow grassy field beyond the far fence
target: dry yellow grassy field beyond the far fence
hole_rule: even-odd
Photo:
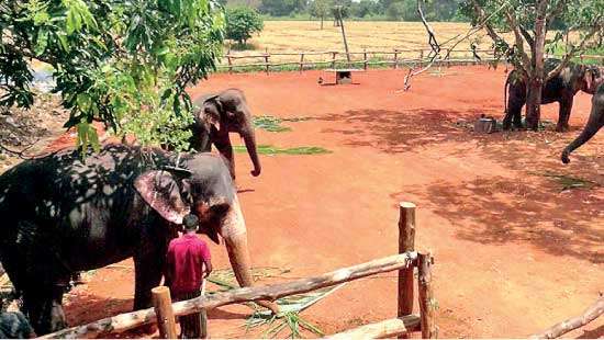
[[[469,30],[469,23],[437,22],[430,23],[436,38],[443,48],[451,46],[458,37],[463,36]],[[424,56],[429,52],[426,30],[420,22],[369,22],[369,21],[348,21],[345,22],[348,47],[351,53],[368,52],[392,52],[396,49],[424,49]],[[555,32],[550,32],[553,36]],[[503,33],[502,36],[510,43],[513,43],[512,33]],[[571,35],[572,38],[572,35]],[[449,41],[449,42],[448,42]],[[448,43],[447,43],[448,42]],[[472,35],[469,39],[461,42],[451,53],[451,58],[471,57],[470,44],[473,43],[479,49],[491,49],[492,41],[484,31]],[[528,48],[528,47],[527,47]],[[227,47],[228,49],[228,47]],[[236,50],[236,55],[258,55],[268,50],[275,53],[300,53],[300,52],[344,52],[342,31],[333,25],[333,21],[326,20],[321,30],[318,21],[265,21],[264,31],[254,36],[246,46],[245,50]],[[561,52],[560,52],[561,53]],[[594,54],[594,53],[591,53]],[[599,53],[595,53],[599,54]],[[484,53],[479,53],[485,57]],[[400,58],[417,58],[417,52],[404,52],[399,55]],[[332,56],[328,54],[318,56],[305,56],[309,61],[327,61]],[[344,58],[340,55],[339,58]],[[368,55],[372,60],[392,60],[392,55]],[[354,60],[361,60],[362,54],[353,55]],[[299,61],[300,56],[272,56],[270,63]],[[234,60],[234,65],[265,63],[264,58],[245,58]],[[596,63],[600,63],[596,60]],[[226,60],[223,60],[223,65]],[[328,66],[328,64],[325,64]],[[298,66],[291,66],[292,69]],[[258,70],[261,67],[258,67]]]

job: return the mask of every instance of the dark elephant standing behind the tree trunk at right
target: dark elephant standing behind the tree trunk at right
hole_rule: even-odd
[[[545,61],[546,72],[555,69],[560,64],[557,59]],[[556,131],[566,132],[569,129],[569,117],[572,110],[574,94],[580,90],[590,94],[595,91],[595,80],[600,71],[595,67],[585,65],[569,64],[560,73],[544,84],[541,91],[541,104],[558,102],[560,104],[558,124]],[[507,90],[510,88],[510,90]],[[516,128],[522,128],[521,110],[526,103],[526,81],[521,72],[513,70],[505,80],[505,94],[510,93],[506,100],[505,117],[503,129],[510,129],[512,123]]]

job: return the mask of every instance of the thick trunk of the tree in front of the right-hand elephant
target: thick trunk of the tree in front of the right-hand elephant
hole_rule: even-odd
[[[541,118],[541,89],[544,87],[544,49],[546,42],[546,15],[549,0],[539,0],[537,18],[535,19],[535,54],[528,76],[526,95],[526,127],[533,131],[539,128]]]

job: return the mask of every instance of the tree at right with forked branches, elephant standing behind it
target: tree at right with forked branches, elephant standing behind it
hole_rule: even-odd
[[[474,24],[485,27],[494,42],[495,53],[505,55],[527,80],[526,124],[535,131],[539,126],[543,84],[581,53],[595,33],[604,30],[604,1],[601,0],[507,0],[503,3],[467,0],[465,10]],[[555,22],[560,31],[548,41],[548,31]],[[514,42],[507,43],[495,29],[513,32]],[[570,32],[579,35],[578,41],[570,42],[558,67],[545,73],[546,48],[557,46]]]

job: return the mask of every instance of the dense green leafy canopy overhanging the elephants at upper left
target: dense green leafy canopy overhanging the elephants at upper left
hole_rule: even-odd
[[[187,146],[184,88],[208,76],[222,52],[224,13],[214,0],[3,0],[2,105],[29,107],[30,60],[53,67],[78,145],[99,146],[91,123],[143,145]]]

